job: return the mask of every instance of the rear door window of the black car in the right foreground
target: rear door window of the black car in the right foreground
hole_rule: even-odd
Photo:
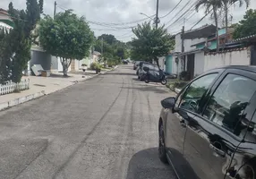
[[[255,91],[256,81],[229,73],[209,99],[203,116],[235,135],[243,136],[248,124],[244,123],[247,119],[243,111]]]

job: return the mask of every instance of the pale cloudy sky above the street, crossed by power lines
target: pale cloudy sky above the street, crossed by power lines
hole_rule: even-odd
[[[171,34],[180,32],[183,25],[185,30],[191,30],[191,28],[199,28],[207,23],[214,23],[207,16],[197,24],[205,15],[205,9],[201,7],[199,12],[196,12],[194,10],[196,0],[158,1],[159,25],[165,24]],[[0,8],[7,9],[10,2],[10,0],[1,0]],[[44,13],[54,14],[54,2],[54,0],[44,0]],[[179,2],[180,4],[178,4]],[[135,27],[137,23],[151,21],[149,18],[146,19],[147,16],[154,18],[157,7],[157,0],[57,0],[56,3],[57,13],[64,12],[66,9],[73,9],[73,13],[85,16],[95,36],[103,33],[113,34],[115,38],[124,42],[131,40],[133,37],[132,27]],[[175,5],[177,5],[176,8]],[[13,0],[13,6],[17,9],[24,9],[26,0]],[[256,1],[251,0],[248,8],[256,9]],[[171,10],[173,10],[172,13],[170,13]],[[235,23],[243,19],[246,6],[243,4],[242,7],[239,7],[239,4],[235,4],[235,6],[230,6],[229,10],[229,22]],[[221,25],[221,18],[219,19]]]

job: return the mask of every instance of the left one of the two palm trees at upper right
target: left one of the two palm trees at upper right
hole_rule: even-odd
[[[222,7],[222,2],[220,0],[200,0],[197,4],[195,4],[195,9],[198,12],[200,6],[203,5],[205,7],[205,13],[211,13],[214,17],[215,26],[216,26],[216,37],[217,37],[217,52],[219,50],[219,38],[218,38],[218,9]]]

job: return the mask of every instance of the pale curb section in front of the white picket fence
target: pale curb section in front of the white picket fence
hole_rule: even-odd
[[[14,107],[14,106],[20,105],[22,103],[25,103],[25,102],[30,101],[35,98],[40,98],[45,95],[46,95],[45,90],[41,90],[39,92],[27,95],[25,97],[14,98],[13,100],[6,101],[4,103],[0,103],[0,111],[4,110],[6,108],[9,108],[9,107]]]

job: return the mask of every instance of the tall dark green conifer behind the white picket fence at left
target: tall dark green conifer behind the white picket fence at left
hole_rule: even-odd
[[[34,30],[43,9],[43,0],[27,0],[26,10],[13,8],[9,4],[8,13],[13,19],[14,28],[10,32],[0,32],[2,42],[0,45],[0,81],[12,80],[20,82],[22,72],[30,61],[31,30]]]

